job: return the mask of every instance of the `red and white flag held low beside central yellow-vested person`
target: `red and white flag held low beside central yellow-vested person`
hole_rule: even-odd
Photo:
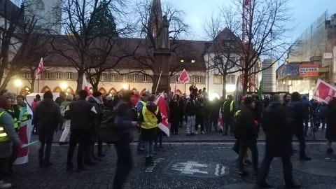
[[[168,124],[168,112],[167,112],[167,105],[165,102],[165,94],[162,92],[161,95],[155,100],[155,104],[159,107],[159,110],[161,112],[162,121],[158,124],[158,127],[162,132],[165,132],[167,136],[169,137],[170,130],[169,130],[169,124]]]

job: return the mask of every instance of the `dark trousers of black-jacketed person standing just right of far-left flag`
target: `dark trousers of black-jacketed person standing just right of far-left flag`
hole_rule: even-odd
[[[38,140],[41,141],[41,148],[38,150],[38,160],[40,161],[40,163],[43,163],[43,161],[49,162],[50,160],[51,144],[54,137],[54,132],[55,130],[53,130],[52,128],[42,127],[38,129]]]

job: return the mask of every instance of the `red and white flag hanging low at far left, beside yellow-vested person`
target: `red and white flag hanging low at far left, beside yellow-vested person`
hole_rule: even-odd
[[[20,123],[20,126],[18,127],[18,134],[23,144],[28,144],[30,142],[31,120],[26,120]],[[25,164],[29,162],[28,154],[29,154],[29,147],[18,148],[18,153],[16,155],[16,160],[14,162],[14,165],[21,165],[21,164]]]

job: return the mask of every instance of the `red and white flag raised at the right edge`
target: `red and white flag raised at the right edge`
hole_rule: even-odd
[[[325,81],[318,79],[315,89],[313,98],[318,100],[319,102],[328,102],[332,99],[332,97],[336,96],[336,88]]]

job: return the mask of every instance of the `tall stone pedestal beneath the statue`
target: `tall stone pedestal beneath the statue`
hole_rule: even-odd
[[[154,76],[152,92],[155,92],[161,71],[162,74],[158,85],[158,90],[156,92],[170,92],[169,62],[171,55],[172,53],[167,49],[160,49],[154,52],[155,67],[153,68]]]

